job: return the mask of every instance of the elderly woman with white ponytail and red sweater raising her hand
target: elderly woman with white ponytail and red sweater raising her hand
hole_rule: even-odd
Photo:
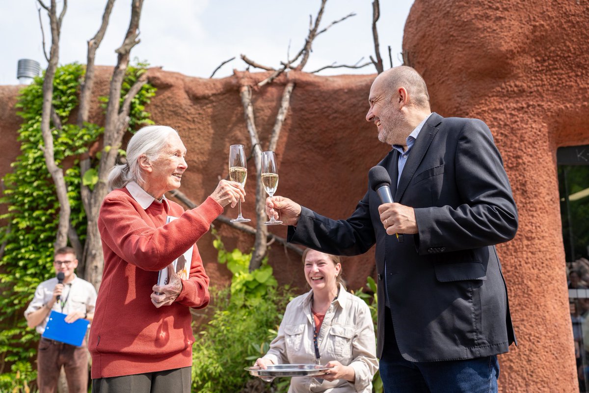
[[[176,130],[144,127],[128,143],[127,164],[108,177],[111,192],[98,216],[104,272],[88,345],[92,392],[190,392],[190,308],[209,303],[209,277],[195,243],[224,206],[244,202],[245,191],[221,180],[185,212],[164,196],[180,187],[185,157]],[[166,223],[168,216],[177,219]],[[190,274],[181,279],[171,262],[190,247]],[[170,282],[155,285],[164,268]]]

